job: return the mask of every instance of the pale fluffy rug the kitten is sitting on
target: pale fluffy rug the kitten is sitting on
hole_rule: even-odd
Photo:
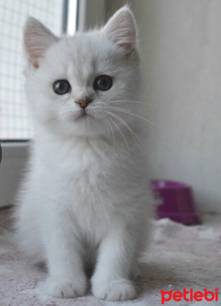
[[[38,289],[46,272],[27,264],[14,249],[8,230],[10,210],[0,211],[0,304],[1,306],[160,306],[161,290],[204,288],[214,292],[221,281],[221,235],[205,226],[184,226],[168,219],[154,222],[152,246],[140,264],[138,295],[133,301],[108,302],[88,293],[76,299],[57,299]],[[221,305],[215,302],[168,301],[168,306]]]

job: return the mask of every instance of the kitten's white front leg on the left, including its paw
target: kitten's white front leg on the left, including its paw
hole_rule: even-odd
[[[80,296],[86,290],[81,245],[73,228],[68,227],[68,221],[62,215],[50,216],[44,232],[49,276],[43,289],[55,297]]]

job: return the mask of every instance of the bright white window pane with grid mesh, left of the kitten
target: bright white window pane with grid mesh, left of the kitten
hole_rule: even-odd
[[[0,140],[29,139],[33,129],[24,94],[22,27],[28,15],[62,31],[64,0],[0,1]]]

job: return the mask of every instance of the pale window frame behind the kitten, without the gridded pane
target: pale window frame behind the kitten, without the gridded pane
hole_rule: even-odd
[[[70,34],[72,23],[68,20],[68,9],[73,2],[77,6],[76,30],[83,32],[88,29],[92,22],[93,14],[91,11],[104,15],[105,1],[104,0],[64,0],[64,15],[62,30],[64,33]],[[70,14],[69,14],[70,16]],[[1,140],[0,140],[1,141]],[[2,146],[2,162],[0,164],[0,208],[11,206],[15,203],[15,195],[19,187],[19,182],[22,177],[25,163],[28,160],[28,151],[31,140],[4,140]]]

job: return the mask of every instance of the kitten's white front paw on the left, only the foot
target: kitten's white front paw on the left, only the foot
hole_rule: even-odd
[[[86,277],[67,279],[65,276],[49,276],[43,290],[54,297],[77,297],[86,291]]]

